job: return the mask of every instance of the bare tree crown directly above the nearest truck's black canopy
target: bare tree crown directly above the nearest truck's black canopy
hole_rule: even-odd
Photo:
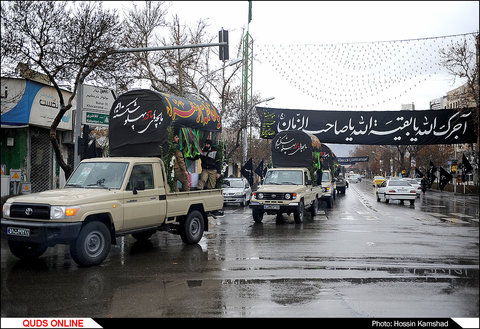
[[[141,8],[128,11],[126,44],[131,48],[158,46],[184,46],[211,43],[214,36],[207,35],[208,24],[199,20],[191,28],[183,24],[178,15],[166,21],[164,3],[146,1]],[[131,53],[136,64],[136,77],[148,80],[151,88],[177,96],[195,95],[200,82],[209,73],[209,48],[185,48]],[[204,83],[205,81],[203,81]]]

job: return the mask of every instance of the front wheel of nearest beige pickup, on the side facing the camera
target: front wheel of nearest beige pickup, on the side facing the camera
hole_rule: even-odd
[[[70,254],[78,265],[99,265],[110,252],[111,240],[110,231],[105,224],[98,221],[90,222],[70,244]]]

